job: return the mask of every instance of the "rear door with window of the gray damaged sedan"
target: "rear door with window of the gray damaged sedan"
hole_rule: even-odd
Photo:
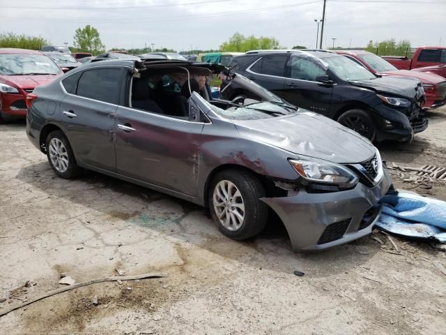
[[[61,121],[76,159],[114,171],[114,116],[125,71],[118,67],[87,69],[62,81]]]

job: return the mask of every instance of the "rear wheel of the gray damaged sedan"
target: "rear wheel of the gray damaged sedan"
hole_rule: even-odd
[[[45,143],[49,165],[61,178],[71,179],[82,173],[76,163],[67,137],[61,131],[52,131]]]

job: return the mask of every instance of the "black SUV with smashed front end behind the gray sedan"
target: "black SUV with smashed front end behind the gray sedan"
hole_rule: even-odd
[[[372,141],[410,142],[414,133],[428,126],[419,80],[377,78],[333,52],[250,51],[234,57],[229,66],[289,103],[337,120]],[[226,79],[222,98],[234,102],[256,98],[231,82],[230,76]]]

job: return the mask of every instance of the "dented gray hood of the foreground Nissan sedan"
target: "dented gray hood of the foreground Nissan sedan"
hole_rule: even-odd
[[[360,163],[375,154],[374,145],[365,137],[307,110],[275,119],[231,121],[240,135],[296,155],[334,163]]]

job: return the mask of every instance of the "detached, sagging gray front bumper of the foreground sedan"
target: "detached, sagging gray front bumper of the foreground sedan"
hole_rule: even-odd
[[[319,251],[371,233],[380,215],[378,201],[392,181],[384,168],[383,179],[369,188],[358,183],[348,191],[307,193],[283,198],[262,198],[282,219],[293,251]]]

